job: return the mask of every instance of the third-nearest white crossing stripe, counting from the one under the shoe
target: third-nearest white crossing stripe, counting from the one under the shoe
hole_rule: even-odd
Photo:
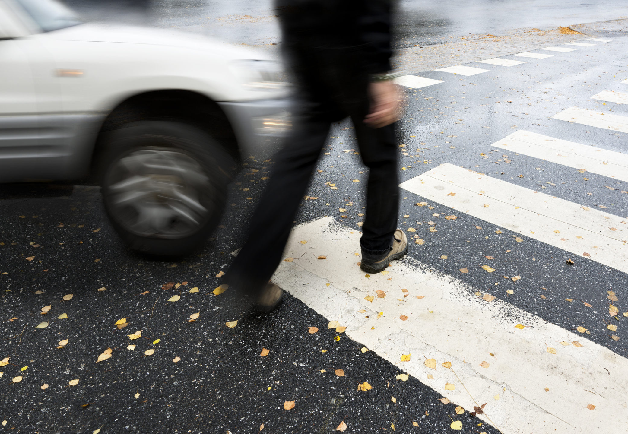
[[[529,131],[516,131],[490,146],[628,182],[628,154]],[[516,158],[512,154],[509,157]],[[609,187],[613,186],[609,184]]]

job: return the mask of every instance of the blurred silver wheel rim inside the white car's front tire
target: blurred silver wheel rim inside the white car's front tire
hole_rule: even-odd
[[[126,231],[142,237],[192,235],[213,209],[212,185],[192,156],[143,148],[121,156],[106,176],[106,202]]]

